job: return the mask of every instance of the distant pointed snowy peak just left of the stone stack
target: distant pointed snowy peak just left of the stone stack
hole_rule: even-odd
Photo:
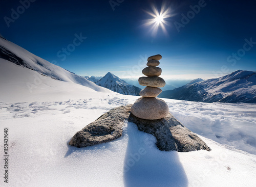
[[[106,73],[105,76],[99,79],[99,81],[95,82],[95,84],[124,95],[139,96],[139,93],[141,91],[140,88],[126,83],[121,78],[112,74],[111,72]]]

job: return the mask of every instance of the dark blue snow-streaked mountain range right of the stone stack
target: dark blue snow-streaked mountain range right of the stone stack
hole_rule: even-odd
[[[159,97],[200,102],[256,103],[256,72],[238,70],[203,81],[195,79]]]

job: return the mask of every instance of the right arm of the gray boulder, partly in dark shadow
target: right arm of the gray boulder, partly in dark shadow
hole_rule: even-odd
[[[189,152],[210,148],[195,133],[182,125],[172,114],[158,120],[145,120],[132,113],[128,121],[137,124],[138,129],[156,137],[156,146],[161,151]]]

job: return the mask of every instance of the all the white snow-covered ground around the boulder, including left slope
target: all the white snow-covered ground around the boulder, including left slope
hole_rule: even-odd
[[[160,151],[126,122],[116,141],[68,145],[75,132],[138,97],[57,81],[0,60],[0,133],[9,131],[9,181],[1,186],[255,186],[255,104],[164,99],[169,111],[212,149]],[[41,80],[32,92],[27,83]],[[0,172],[4,172],[3,154]]]

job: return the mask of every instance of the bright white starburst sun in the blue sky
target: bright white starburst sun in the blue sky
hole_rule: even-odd
[[[145,20],[143,25],[150,26],[150,31],[153,36],[156,36],[158,28],[161,28],[162,31],[167,34],[165,26],[167,25],[167,21],[165,20],[168,17],[174,16],[171,14],[170,7],[167,7],[166,4],[162,4],[161,10],[158,11],[155,5],[152,5],[152,12],[145,11],[147,14],[151,15],[153,18]]]

